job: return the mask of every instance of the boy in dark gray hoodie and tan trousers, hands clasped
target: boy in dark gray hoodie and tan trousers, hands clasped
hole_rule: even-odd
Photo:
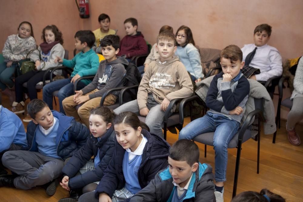
[[[89,127],[88,118],[92,108],[100,105],[102,95],[110,88],[122,87],[123,77],[126,73],[125,66],[128,61],[125,56],[117,57],[119,52],[119,37],[107,35],[101,42],[102,54],[106,60],[101,61],[97,74],[93,81],[85,88],[75,91],[75,95],[69,96],[62,101],[63,109],[67,116],[75,117],[76,121]],[[115,104],[117,92],[109,94],[104,101],[104,106]],[[82,104],[78,109],[75,106]]]

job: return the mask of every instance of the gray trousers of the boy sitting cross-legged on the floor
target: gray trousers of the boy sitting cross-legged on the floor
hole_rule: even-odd
[[[2,156],[2,164],[19,176],[14,185],[28,190],[58,178],[62,174],[64,161],[33,151],[7,151]]]

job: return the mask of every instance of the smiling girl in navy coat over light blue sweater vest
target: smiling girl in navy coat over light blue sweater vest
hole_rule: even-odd
[[[114,120],[116,147],[95,192],[81,201],[121,201],[144,188],[155,174],[167,167],[169,144],[157,134],[142,129],[138,116],[122,112]]]

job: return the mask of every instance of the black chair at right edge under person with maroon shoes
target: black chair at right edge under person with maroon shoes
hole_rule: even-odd
[[[282,101],[283,98],[283,83],[284,81],[288,81],[289,77],[282,77],[279,80],[279,100],[278,100],[278,108],[277,108],[277,116],[276,116],[276,126],[277,126],[277,131],[278,128],[281,128],[281,105],[284,107],[289,108],[289,110],[291,110],[292,108],[292,100],[290,99],[290,97],[284,99]],[[277,136],[277,131],[275,131],[274,133],[274,137],[272,138],[272,143],[276,143],[276,136]]]

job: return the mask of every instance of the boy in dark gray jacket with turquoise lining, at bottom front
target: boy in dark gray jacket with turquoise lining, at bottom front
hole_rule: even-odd
[[[215,202],[214,175],[199,162],[199,148],[190,140],[178,140],[169,150],[168,168],[128,201]]]

